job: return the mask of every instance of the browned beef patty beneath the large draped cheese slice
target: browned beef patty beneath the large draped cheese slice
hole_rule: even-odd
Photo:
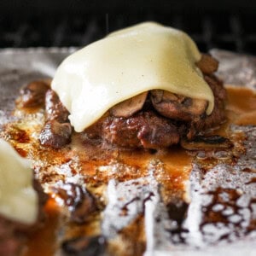
[[[225,119],[226,91],[223,84],[214,76],[206,76],[205,79],[215,98],[211,115],[203,113],[184,122],[179,121],[183,119],[183,113],[177,112],[180,118],[167,119],[148,103],[129,118],[103,117],[86,129],[84,134],[90,139],[102,139],[103,142],[124,148],[167,148],[179,143],[182,138],[192,140],[199,132],[218,126]]]

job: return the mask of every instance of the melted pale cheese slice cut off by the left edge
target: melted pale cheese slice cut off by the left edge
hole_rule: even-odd
[[[38,217],[38,194],[32,188],[32,169],[26,159],[0,139],[0,214],[24,224]]]

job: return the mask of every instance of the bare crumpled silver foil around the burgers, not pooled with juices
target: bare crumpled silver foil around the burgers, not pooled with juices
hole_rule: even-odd
[[[15,106],[20,87],[34,79],[52,78],[56,67],[74,50],[0,50],[0,128],[11,119],[9,113]],[[256,57],[219,49],[212,49],[211,54],[220,63],[217,74],[225,84],[256,90]],[[231,130],[246,135],[243,144],[247,153],[241,155],[235,166],[218,164],[208,172],[194,163],[189,181],[191,201],[183,224],[178,226],[178,234],[177,222],[172,220],[160,198],[154,175],[108,183],[102,234],[109,238],[116,236],[126,223],[144,212],[147,237],[144,254],[147,256],[256,255],[256,127],[233,125]],[[154,172],[154,163],[150,168],[150,172]],[[122,195],[123,200],[118,201],[116,195]],[[119,212],[124,206],[130,213],[122,218]],[[207,214],[211,212],[218,212],[229,222],[207,222]],[[252,227],[253,231],[248,232]]]

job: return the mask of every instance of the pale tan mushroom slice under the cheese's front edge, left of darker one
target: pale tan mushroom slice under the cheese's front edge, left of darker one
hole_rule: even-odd
[[[148,91],[145,91],[137,96],[132,97],[131,99],[120,102],[110,109],[110,114],[115,117],[130,117],[133,113],[137,113],[137,111],[143,108],[147,96]]]

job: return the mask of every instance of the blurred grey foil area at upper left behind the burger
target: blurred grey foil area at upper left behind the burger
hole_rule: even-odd
[[[74,48],[0,50],[0,125],[9,119],[20,87],[30,81],[54,76],[60,62]]]

